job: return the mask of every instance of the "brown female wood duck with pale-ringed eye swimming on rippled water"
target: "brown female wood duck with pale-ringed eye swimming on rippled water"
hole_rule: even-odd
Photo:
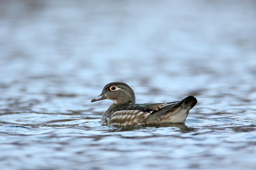
[[[114,103],[105,111],[101,123],[103,125],[146,125],[158,123],[184,123],[188,112],[197,103],[196,98],[188,96],[182,101],[135,104],[133,90],[125,83],[107,84],[100,96],[91,102],[110,99]]]

